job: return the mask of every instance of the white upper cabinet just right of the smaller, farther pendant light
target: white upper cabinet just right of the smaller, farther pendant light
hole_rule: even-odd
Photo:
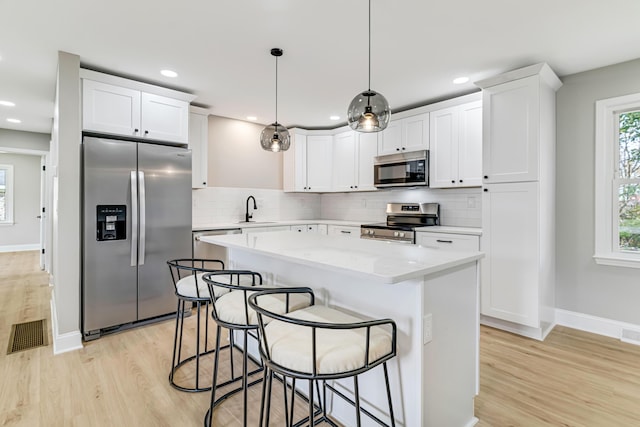
[[[333,137],[307,135],[291,129],[291,147],[284,152],[284,191],[331,191]]]

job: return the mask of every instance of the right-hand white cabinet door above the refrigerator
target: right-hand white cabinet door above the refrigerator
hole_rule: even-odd
[[[189,104],[165,96],[142,93],[142,137],[160,141],[189,142]]]

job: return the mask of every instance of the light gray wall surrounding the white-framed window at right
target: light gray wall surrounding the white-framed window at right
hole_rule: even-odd
[[[640,92],[640,60],[564,77],[557,93],[557,308],[640,324],[640,269],[594,254],[595,102]]]

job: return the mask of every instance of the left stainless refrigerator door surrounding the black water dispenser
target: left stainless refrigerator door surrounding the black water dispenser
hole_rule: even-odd
[[[137,320],[130,181],[136,170],[136,143],[86,137],[83,156],[82,326],[86,335]],[[104,205],[126,206],[125,239],[97,240],[97,209]]]

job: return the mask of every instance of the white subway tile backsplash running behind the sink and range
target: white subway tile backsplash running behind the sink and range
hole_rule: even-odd
[[[244,220],[246,200],[256,198],[255,221],[334,219],[381,222],[389,202],[438,202],[441,224],[482,226],[480,188],[388,189],[362,193],[285,193],[260,188],[207,187],[192,190],[193,226]],[[253,211],[253,209],[251,209]]]

